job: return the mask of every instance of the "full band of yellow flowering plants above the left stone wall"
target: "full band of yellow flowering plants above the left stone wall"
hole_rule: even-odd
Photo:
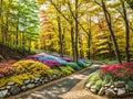
[[[8,77],[2,77],[0,79],[0,87],[4,86],[8,81],[14,81],[22,85],[25,79],[34,79],[35,77],[50,76],[53,74],[69,75],[74,72],[71,66],[50,68],[49,66],[32,59],[19,61],[12,65],[12,68],[18,68],[18,70]]]

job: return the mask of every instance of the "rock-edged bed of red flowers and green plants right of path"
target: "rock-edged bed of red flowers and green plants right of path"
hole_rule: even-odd
[[[124,97],[133,92],[133,62],[101,66],[89,76],[86,87],[100,96]]]

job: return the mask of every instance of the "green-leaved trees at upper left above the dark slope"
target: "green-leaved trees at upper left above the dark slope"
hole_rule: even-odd
[[[0,43],[30,52],[39,35],[38,6],[35,0],[0,0]]]

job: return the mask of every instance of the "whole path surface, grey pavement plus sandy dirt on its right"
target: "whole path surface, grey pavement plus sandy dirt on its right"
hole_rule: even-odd
[[[84,89],[85,79],[89,74],[99,69],[100,66],[100,64],[93,64],[91,67],[79,73],[31,89],[18,96],[9,97],[8,99],[84,99],[82,97],[89,94],[89,91]],[[88,99],[96,98],[90,96]]]

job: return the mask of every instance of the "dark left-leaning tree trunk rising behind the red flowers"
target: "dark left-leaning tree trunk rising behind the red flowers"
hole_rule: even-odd
[[[104,0],[102,0],[102,9],[103,9],[103,12],[104,12],[104,15],[105,15],[105,20],[106,20],[106,23],[108,23],[108,26],[109,26],[109,31],[111,33],[111,38],[112,38],[112,42],[113,42],[113,45],[114,45],[114,52],[115,52],[116,58],[117,58],[119,63],[121,64],[122,61],[121,61],[121,56],[120,56],[119,46],[117,46],[117,43],[116,43],[116,40],[115,40],[115,36],[114,36],[114,32],[113,32],[113,29],[112,29],[111,14],[106,10]]]

